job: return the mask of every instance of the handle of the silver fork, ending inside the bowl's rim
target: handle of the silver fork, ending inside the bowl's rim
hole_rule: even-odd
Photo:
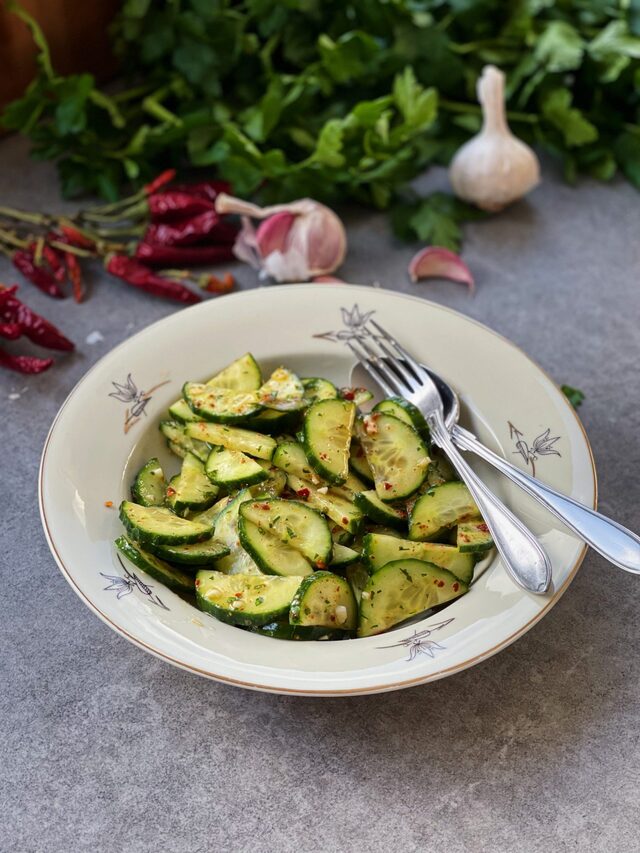
[[[511,577],[529,592],[546,592],[551,583],[551,564],[540,543],[465,462],[440,413],[432,413],[427,422],[431,437],[453,462],[471,492]]]

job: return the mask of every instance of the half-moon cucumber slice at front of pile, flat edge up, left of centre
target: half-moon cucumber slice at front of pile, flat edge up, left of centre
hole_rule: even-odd
[[[201,610],[231,625],[268,625],[288,612],[301,580],[201,569],[196,575],[196,602]]]

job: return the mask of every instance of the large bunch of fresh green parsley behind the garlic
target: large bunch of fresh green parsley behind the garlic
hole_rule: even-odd
[[[125,0],[110,94],[57,75],[16,11],[39,73],[3,122],[57,162],[67,197],[191,165],[267,201],[394,204],[405,236],[455,248],[469,208],[402,193],[479,128],[488,62],[511,126],[569,180],[621,170],[640,187],[638,0]]]

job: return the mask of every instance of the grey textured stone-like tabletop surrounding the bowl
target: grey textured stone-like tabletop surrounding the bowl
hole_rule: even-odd
[[[52,170],[25,151],[0,144],[2,203],[60,209]],[[636,529],[639,224],[628,186],[573,189],[548,166],[529,202],[467,228],[474,299],[456,284],[410,285],[412,249],[381,216],[349,214],[342,269],[478,318],[582,388],[600,507]],[[237,276],[256,284],[248,269]],[[14,280],[0,262],[0,281]],[[395,694],[269,696],[161,663],[102,624],[58,572],[36,472],[75,382],[175,307],[98,274],[81,306],[28,284],[21,293],[79,351],[41,377],[0,374],[3,853],[640,850],[640,579],[591,553],[514,646]],[[94,331],[104,340],[85,343]]]

